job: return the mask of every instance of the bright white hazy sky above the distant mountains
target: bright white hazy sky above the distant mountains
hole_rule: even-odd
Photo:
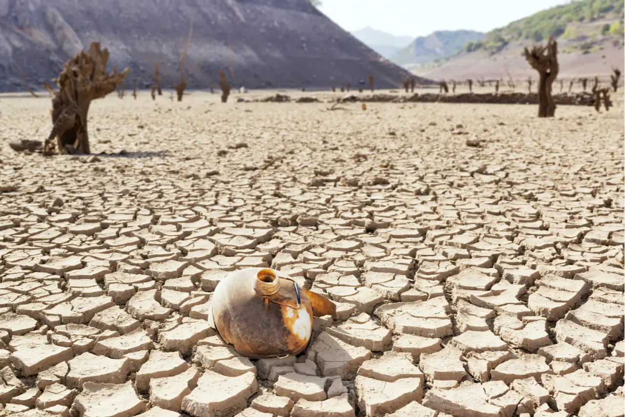
[[[371,26],[396,35],[436,30],[486,32],[567,0],[322,0],[319,8],[347,31]]]

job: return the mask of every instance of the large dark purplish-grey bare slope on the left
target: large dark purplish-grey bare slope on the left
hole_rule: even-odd
[[[0,0],[0,91],[22,90],[15,63],[41,90],[92,41],[109,48],[111,65],[131,68],[127,87],[148,86],[160,61],[171,88],[191,23],[189,88],[218,85],[220,69],[248,88],[329,88],[369,75],[389,88],[408,75],[307,0]]]

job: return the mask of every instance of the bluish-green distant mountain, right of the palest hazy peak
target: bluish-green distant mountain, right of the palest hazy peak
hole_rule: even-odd
[[[482,39],[484,39],[482,32],[436,31],[427,36],[419,36],[389,59],[399,65],[423,64],[456,54],[467,42]]]

